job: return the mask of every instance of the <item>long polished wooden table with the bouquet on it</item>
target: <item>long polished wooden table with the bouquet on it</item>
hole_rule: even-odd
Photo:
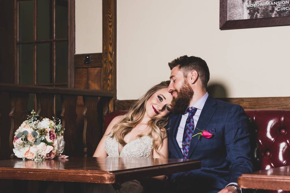
[[[0,160],[0,179],[115,183],[199,169],[185,159],[69,157],[44,161]]]

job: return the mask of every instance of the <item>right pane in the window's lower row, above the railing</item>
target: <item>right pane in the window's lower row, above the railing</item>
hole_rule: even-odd
[[[55,79],[56,83],[67,83],[67,41],[55,43]]]

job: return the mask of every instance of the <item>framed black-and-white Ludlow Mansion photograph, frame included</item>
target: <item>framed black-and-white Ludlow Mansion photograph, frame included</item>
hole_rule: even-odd
[[[290,0],[220,0],[220,29],[290,25]]]

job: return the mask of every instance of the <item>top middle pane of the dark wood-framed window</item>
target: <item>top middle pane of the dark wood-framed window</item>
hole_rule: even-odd
[[[37,1],[37,40],[52,38],[51,0]]]

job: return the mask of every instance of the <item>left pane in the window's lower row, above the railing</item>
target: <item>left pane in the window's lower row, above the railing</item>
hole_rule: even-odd
[[[33,44],[19,45],[19,83],[33,82]]]

